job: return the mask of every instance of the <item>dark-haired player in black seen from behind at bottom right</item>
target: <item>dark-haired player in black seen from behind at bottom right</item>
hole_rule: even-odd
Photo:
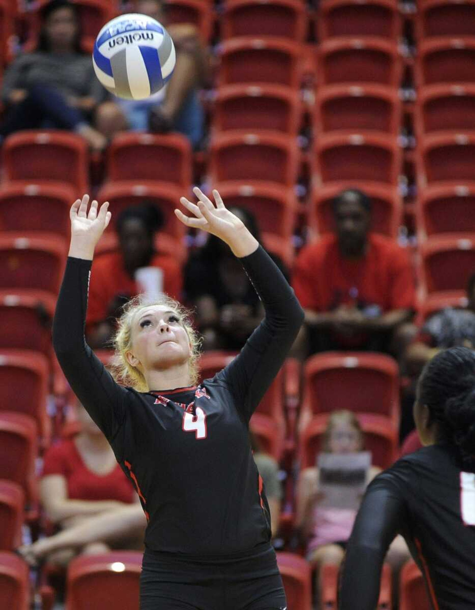
[[[475,608],[475,352],[430,361],[414,406],[424,445],[368,487],[344,562],[340,610],[374,610],[386,550],[401,533],[434,610]]]

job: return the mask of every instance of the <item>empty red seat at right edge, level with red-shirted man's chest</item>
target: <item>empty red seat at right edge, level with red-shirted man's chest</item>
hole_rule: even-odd
[[[475,271],[475,234],[432,237],[421,243],[421,280],[426,293],[466,289]]]

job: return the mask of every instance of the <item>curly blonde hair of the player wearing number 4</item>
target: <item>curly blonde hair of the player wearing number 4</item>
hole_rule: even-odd
[[[198,383],[198,360],[200,358],[200,347],[202,339],[191,323],[191,312],[168,295],[150,301],[144,295],[139,295],[128,301],[122,308],[122,315],[117,320],[117,332],[114,337],[115,357],[112,364],[112,374],[116,381],[125,386],[131,386],[137,392],[148,392],[150,389],[145,377],[137,367],[129,364],[126,353],[132,349],[132,321],[140,309],[145,307],[167,307],[179,318],[181,326],[186,331],[190,345],[191,354],[188,361],[189,375],[192,386]]]

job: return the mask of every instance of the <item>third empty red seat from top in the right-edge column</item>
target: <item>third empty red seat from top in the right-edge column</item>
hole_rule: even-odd
[[[415,107],[416,134],[451,129],[475,131],[475,84],[421,87]]]

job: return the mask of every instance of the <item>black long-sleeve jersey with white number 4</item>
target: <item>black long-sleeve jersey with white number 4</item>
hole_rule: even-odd
[[[226,556],[270,540],[248,422],[296,338],[303,310],[261,246],[240,260],[266,310],[241,353],[198,387],[140,393],[119,386],[85,342],[91,262],[68,258],[54,350],[136,486],[148,520],[145,545],[153,551]]]

